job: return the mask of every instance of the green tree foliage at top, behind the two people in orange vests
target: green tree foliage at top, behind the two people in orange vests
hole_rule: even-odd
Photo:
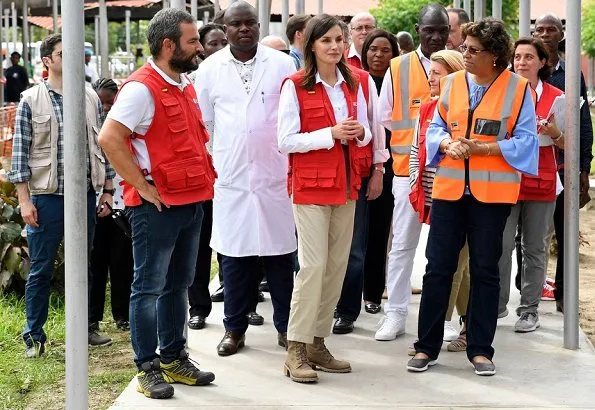
[[[445,7],[452,5],[452,0],[439,0],[438,3]],[[487,7],[484,15],[492,14],[492,2],[486,1]],[[399,31],[408,31],[417,42],[418,37],[415,33],[415,24],[419,17],[420,10],[428,4],[428,0],[380,0],[378,8],[372,9],[371,13],[376,17],[378,26],[397,33]],[[518,0],[503,0],[502,17],[513,37],[518,33]],[[471,10],[473,18],[473,9]]]

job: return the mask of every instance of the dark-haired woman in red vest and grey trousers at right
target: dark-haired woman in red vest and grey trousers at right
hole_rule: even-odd
[[[514,45],[513,71],[529,80],[536,100],[537,132],[539,138],[539,174],[523,175],[519,200],[510,211],[504,229],[500,258],[500,316],[507,313],[510,296],[512,251],[515,247],[517,225],[521,226],[523,265],[521,270],[521,303],[516,309],[520,316],[514,325],[519,333],[533,332],[539,327],[537,307],[545,281],[547,232],[556,208],[556,196],[561,188],[556,165],[556,146],[564,147],[564,134],[550,115],[556,97],[564,93],[548,84],[551,75],[549,53],[545,44],[532,37],[523,37]],[[520,216],[520,221],[519,221]]]

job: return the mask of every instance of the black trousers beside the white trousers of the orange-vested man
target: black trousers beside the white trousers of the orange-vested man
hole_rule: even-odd
[[[393,219],[392,178],[385,176],[382,195],[368,202],[368,248],[364,264],[364,300],[382,302],[386,284],[388,237]]]

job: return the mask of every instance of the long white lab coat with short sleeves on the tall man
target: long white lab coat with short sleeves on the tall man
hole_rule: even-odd
[[[296,250],[287,194],[287,156],[277,147],[277,111],[293,60],[259,45],[250,95],[229,46],[200,64],[196,94],[205,122],[214,121],[211,248],[232,257],[283,255]]]

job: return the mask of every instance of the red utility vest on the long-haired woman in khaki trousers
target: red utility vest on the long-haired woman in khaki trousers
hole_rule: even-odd
[[[320,83],[309,91],[302,86],[304,71],[288,77],[295,85],[300,106],[300,133],[313,132],[337,124],[333,106],[324,86]],[[342,83],[348,116],[357,120],[357,90],[349,90]],[[347,199],[357,200],[361,187],[360,164],[357,143],[347,145],[345,155],[339,140],[331,149],[318,149],[304,153],[289,154],[287,188],[293,195],[293,203],[301,205],[345,205]],[[349,160],[349,164],[345,160]],[[347,172],[350,189],[347,190]],[[349,193],[349,198],[348,198]]]

